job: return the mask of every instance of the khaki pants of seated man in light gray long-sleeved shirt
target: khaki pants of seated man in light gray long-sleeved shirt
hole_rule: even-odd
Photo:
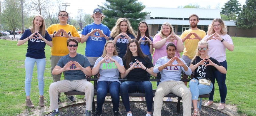
[[[191,115],[191,93],[182,81],[164,81],[157,86],[154,97],[154,116],[161,116],[163,97],[173,93],[182,97],[183,116]]]

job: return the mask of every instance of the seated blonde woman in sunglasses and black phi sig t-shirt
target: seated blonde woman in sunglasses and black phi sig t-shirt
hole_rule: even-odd
[[[198,96],[209,94],[212,91],[212,75],[215,70],[221,73],[227,73],[227,70],[220,65],[214,58],[208,56],[208,43],[205,41],[198,42],[198,48],[192,63],[189,65],[191,71],[195,71],[195,78],[189,81],[189,87],[192,94],[193,113],[192,116],[199,115]],[[199,81],[204,81],[200,84]]]

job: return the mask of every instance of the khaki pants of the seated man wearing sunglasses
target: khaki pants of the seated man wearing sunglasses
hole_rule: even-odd
[[[86,79],[82,80],[61,80],[51,83],[49,87],[51,110],[58,108],[58,93],[77,90],[85,93],[86,110],[92,110],[94,87]]]

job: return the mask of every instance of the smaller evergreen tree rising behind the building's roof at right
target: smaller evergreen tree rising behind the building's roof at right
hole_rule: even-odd
[[[227,3],[224,4],[224,7],[221,8],[221,14],[225,14],[225,15],[228,15],[228,14],[232,14],[232,13],[235,13],[235,14],[239,14],[239,12],[241,11],[241,4],[238,3],[237,0],[229,0],[227,1]]]

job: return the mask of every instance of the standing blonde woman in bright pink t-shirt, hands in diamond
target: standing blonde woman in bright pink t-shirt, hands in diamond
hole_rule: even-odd
[[[161,30],[157,33],[153,38],[153,48],[155,48],[155,52],[152,56],[153,65],[157,62],[157,60],[161,57],[167,56],[166,53],[166,45],[168,43],[174,43],[176,48],[175,56],[180,57],[179,52],[183,52],[184,46],[176,34],[173,32],[173,27],[170,23],[163,23]]]

